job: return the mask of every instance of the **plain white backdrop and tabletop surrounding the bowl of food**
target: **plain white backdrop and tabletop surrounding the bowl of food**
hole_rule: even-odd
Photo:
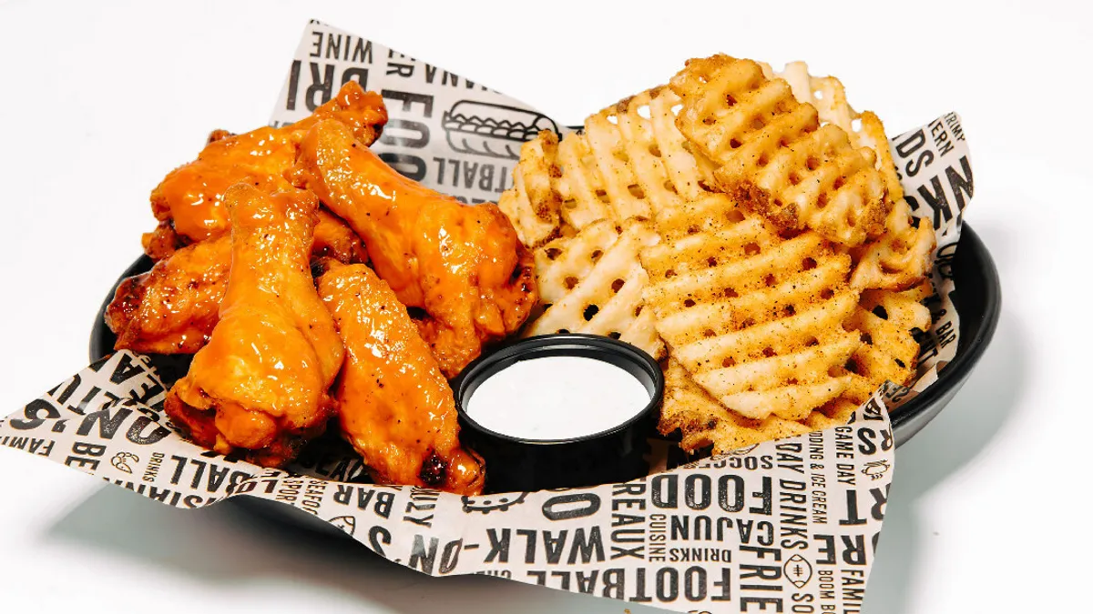
[[[1091,15],[1074,2],[660,4],[0,1],[0,412],[86,364],[148,193],[212,128],[266,121],[316,17],[563,122],[724,50],[806,59],[890,131],[957,110],[968,223],[1004,304],[948,410],[900,449],[868,614],[1089,611]],[[1083,563],[1084,560],[1084,563]],[[0,449],[0,612],[514,612],[642,607],[434,580],[353,544],[178,511]]]

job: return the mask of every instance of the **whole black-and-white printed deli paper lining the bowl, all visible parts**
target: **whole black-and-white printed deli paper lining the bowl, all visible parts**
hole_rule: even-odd
[[[403,173],[469,202],[507,187],[519,144],[550,118],[366,39],[312,23],[274,122],[293,121],[348,79],[381,92],[375,145]],[[486,574],[697,612],[856,612],[893,470],[885,405],[933,381],[957,322],[949,264],[972,196],[955,114],[893,139],[915,215],[938,234],[936,326],[920,379],[889,386],[846,426],[738,450],[618,485],[459,497],[362,483],[361,460],[306,454],[289,471],[184,440],[162,413],[152,359],[117,352],[0,421],[0,447],[49,458],[145,497],[198,508],[234,496],[295,507],[374,552],[433,576]]]

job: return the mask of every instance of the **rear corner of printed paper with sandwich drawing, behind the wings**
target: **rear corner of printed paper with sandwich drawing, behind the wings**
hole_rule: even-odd
[[[312,22],[271,125],[303,119],[350,80],[379,92],[389,120],[372,150],[402,175],[463,202],[512,186],[520,145],[566,130],[528,105],[360,36]]]

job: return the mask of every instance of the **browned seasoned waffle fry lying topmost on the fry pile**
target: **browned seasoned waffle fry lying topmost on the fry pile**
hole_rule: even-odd
[[[750,60],[690,60],[671,81],[680,131],[718,164],[718,187],[781,229],[815,229],[858,246],[891,209],[875,155],[800,104],[789,84]]]

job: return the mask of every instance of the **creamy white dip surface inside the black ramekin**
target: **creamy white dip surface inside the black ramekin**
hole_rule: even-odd
[[[466,411],[480,425],[522,439],[568,439],[607,430],[649,404],[626,369],[584,356],[520,361],[493,374]]]

